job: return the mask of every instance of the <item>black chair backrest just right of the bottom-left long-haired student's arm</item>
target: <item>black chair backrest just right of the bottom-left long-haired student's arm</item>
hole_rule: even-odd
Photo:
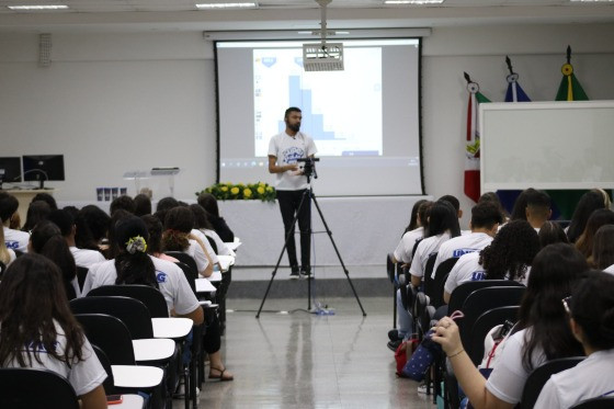
[[[75,316],[90,343],[99,345],[112,365],[135,365],[130,331],[120,318],[106,314],[77,314]]]

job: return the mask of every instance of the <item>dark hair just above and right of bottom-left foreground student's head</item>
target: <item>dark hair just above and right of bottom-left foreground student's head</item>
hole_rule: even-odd
[[[67,296],[73,298],[76,294],[72,280],[77,276],[77,265],[59,227],[49,220],[43,220],[32,230],[30,240],[34,252],[45,255],[59,268]]]

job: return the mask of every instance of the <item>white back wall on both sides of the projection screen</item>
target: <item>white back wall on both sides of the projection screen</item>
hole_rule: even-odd
[[[512,59],[535,101],[552,101],[567,45],[592,100],[614,99],[614,25],[435,27],[424,39],[422,128],[427,194],[463,195],[467,91],[463,71],[502,101]],[[175,195],[215,180],[215,73],[200,32],[53,34],[39,68],[37,36],[0,37],[1,155],[64,154],[61,200],[93,200],[96,186],[130,188],[127,170],[180,166]],[[240,121],[240,118],[238,118]],[[166,181],[163,181],[166,183]],[[161,195],[164,183],[158,183]],[[468,217],[464,217],[466,226]],[[405,223],[405,221],[403,221]]]

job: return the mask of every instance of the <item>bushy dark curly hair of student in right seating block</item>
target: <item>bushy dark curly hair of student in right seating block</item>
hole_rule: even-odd
[[[526,220],[513,220],[501,227],[492,242],[480,251],[479,263],[486,270],[486,280],[520,281],[538,251],[535,229]]]

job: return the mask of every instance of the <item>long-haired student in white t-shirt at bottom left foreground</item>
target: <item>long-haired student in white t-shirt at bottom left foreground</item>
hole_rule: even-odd
[[[68,379],[82,409],[106,408],[106,372],[70,313],[57,265],[39,254],[15,260],[0,282],[0,322],[1,367],[55,372]]]

